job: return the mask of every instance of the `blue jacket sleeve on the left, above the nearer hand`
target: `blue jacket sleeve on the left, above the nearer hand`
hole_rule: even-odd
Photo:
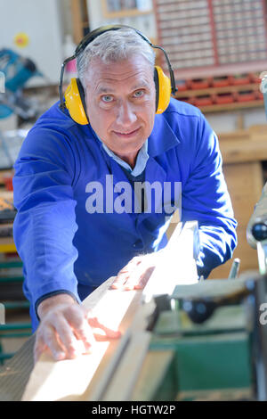
[[[51,293],[78,299],[73,265],[77,231],[72,185],[75,159],[68,138],[50,128],[34,127],[14,164],[13,237],[23,261],[24,292],[33,308]]]

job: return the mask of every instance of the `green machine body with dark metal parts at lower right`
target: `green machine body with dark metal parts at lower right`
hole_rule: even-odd
[[[267,276],[255,271],[175,287],[172,307],[178,313],[163,312],[154,336],[158,333],[158,349],[164,338],[167,349],[175,349],[179,399],[189,390],[201,398],[203,390],[220,389],[223,397],[225,389],[247,387],[247,395],[237,392],[238,399],[267,400],[266,290]],[[153,343],[155,348],[155,338]]]

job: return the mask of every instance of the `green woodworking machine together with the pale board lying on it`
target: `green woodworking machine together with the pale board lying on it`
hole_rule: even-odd
[[[144,290],[109,278],[83,302],[120,339],[33,366],[33,335],[0,370],[0,399],[267,399],[266,276],[199,281],[197,249],[198,223],[180,223]]]

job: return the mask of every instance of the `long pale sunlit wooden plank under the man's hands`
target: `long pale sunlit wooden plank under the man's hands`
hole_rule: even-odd
[[[143,306],[143,292],[146,298],[150,299],[150,304],[146,305],[151,311],[154,302],[151,300],[153,289],[156,292],[173,292],[174,284],[179,283],[179,278],[184,281],[187,278],[189,283],[198,281],[197,267],[195,261],[191,259],[193,250],[192,234],[190,228],[181,233],[181,225],[177,226],[177,232],[168,243],[169,255],[173,257],[158,258],[157,264],[149,283],[145,289],[138,291],[110,290],[112,278],[101,285],[101,290],[97,289],[84,301],[86,308],[92,308],[92,301],[97,301],[93,305],[93,315],[99,316],[101,323],[110,328],[117,328],[122,332],[122,337],[116,341],[97,341],[92,348],[92,352],[81,355],[75,359],[55,362],[52,357],[42,354],[30,376],[28,386],[25,390],[23,400],[93,400],[101,398],[106,390],[109,378],[114,369],[117,368],[117,360],[124,353],[128,339],[128,331],[133,324],[133,331],[141,330],[145,327],[148,318],[141,316],[138,311]],[[176,233],[176,234],[175,234]],[[182,244],[180,243],[182,236]],[[185,242],[184,242],[185,239]],[[182,252],[181,252],[182,249]],[[184,258],[184,252],[188,250],[188,258]],[[177,257],[177,254],[180,257]],[[190,261],[190,265],[188,262]],[[172,262],[172,267],[166,272],[166,262]],[[164,268],[163,268],[164,267]],[[188,275],[186,275],[188,271]],[[173,276],[172,276],[173,275]],[[150,285],[150,286],[149,286]],[[112,316],[110,315],[112,313]],[[148,313],[146,313],[148,315]],[[135,321],[135,323],[134,323]],[[117,355],[118,354],[118,355]],[[112,362],[111,362],[112,361]]]

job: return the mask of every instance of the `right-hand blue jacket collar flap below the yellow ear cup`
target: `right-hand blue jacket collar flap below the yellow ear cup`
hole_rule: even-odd
[[[154,127],[149,136],[148,153],[150,157],[156,157],[177,144],[180,144],[180,140],[174,134],[164,116],[156,115]]]

